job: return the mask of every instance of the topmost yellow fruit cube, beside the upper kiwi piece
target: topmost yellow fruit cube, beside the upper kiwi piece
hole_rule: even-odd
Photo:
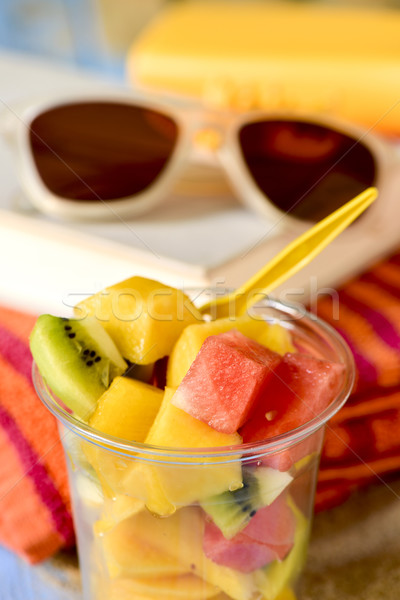
[[[75,314],[95,316],[122,356],[136,364],[169,355],[182,330],[202,321],[181,290],[144,277],[132,277],[94,294],[75,307]]]

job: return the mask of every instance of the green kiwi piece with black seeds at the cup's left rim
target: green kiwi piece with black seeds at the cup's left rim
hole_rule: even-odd
[[[114,377],[128,366],[94,317],[41,315],[31,333],[30,348],[47,385],[84,421]]]

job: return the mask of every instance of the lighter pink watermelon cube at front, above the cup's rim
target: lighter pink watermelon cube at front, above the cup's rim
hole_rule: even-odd
[[[209,336],[172,403],[222,433],[235,433],[282,357],[236,330]]]

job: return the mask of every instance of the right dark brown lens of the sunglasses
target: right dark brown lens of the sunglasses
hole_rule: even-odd
[[[260,190],[284,212],[319,221],[374,185],[376,164],[362,142],[301,121],[256,121],[239,131]]]

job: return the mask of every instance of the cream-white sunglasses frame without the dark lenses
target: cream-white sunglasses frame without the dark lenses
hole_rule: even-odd
[[[99,198],[99,202],[70,201],[53,194],[45,186],[37,172],[30,150],[30,124],[39,114],[59,105],[100,101],[143,106],[143,108],[157,110],[169,116],[178,126],[177,142],[167,167],[148,188],[139,194],[112,201],[101,198]],[[240,149],[238,132],[244,124],[276,118],[323,125],[353,137],[355,143],[361,141],[371,152],[377,166],[377,177],[373,185],[378,188],[380,195],[384,193],[386,182],[390,178],[393,168],[399,164],[399,157],[396,155],[395,149],[370,131],[342,123],[325,115],[310,115],[293,110],[246,113],[217,112],[198,106],[181,106],[172,101],[153,101],[133,95],[133,93],[118,95],[91,93],[52,98],[35,104],[30,103],[19,109],[9,109],[6,119],[3,119],[3,132],[6,133],[8,140],[17,151],[17,167],[21,186],[27,198],[39,211],[59,219],[70,221],[104,220],[113,217],[123,219],[150,212],[165,201],[166,196],[173,190],[176,182],[182,177],[185,169],[189,169],[192,162],[203,162],[202,151],[200,153],[197,151],[196,154],[195,136],[198,132],[206,130],[213,131],[221,143],[218,143],[215,149],[206,152],[204,162],[210,164],[213,160],[215,161],[214,168],[220,167],[223,170],[237,199],[244,206],[266,217],[269,221],[280,222],[284,217],[285,227],[288,225],[298,226],[299,223],[304,224],[306,221],[299,221],[288,215],[269,200],[253,180]]]

